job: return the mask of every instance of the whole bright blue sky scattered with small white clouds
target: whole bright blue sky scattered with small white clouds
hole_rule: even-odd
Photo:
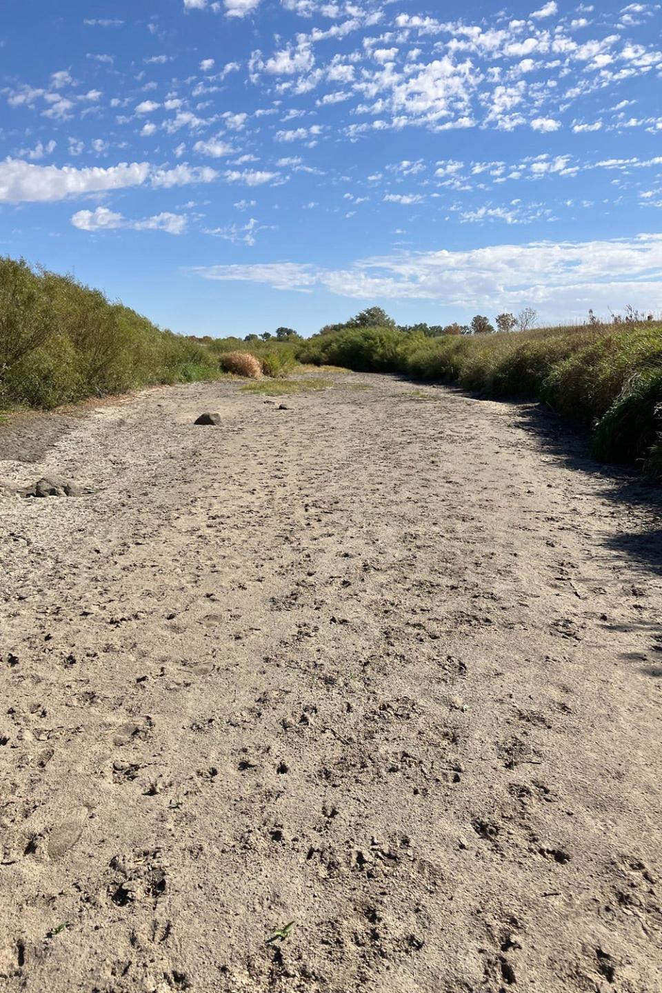
[[[0,24],[0,251],[164,327],[662,310],[658,4],[46,0]]]

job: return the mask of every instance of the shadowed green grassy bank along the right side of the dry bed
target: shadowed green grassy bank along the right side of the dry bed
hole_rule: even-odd
[[[429,339],[389,328],[319,335],[298,353],[357,371],[540,399],[593,432],[596,456],[662,477],[662,325],[613,324]]]

